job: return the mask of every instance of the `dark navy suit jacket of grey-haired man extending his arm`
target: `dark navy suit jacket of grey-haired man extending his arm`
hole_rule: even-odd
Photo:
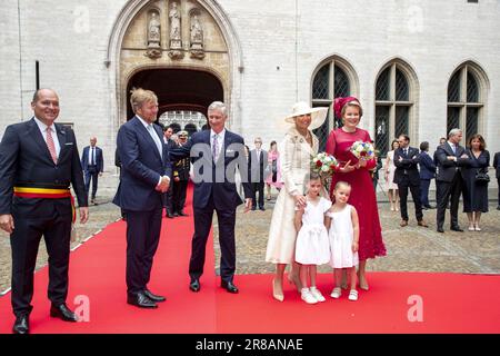
[[[191,136],[189,141],[171,150],[171,159],[191,156],[194,172],[193,207],[203,209],[213,199],[217,209],[234,210],[242,200],[234,184],[234,172],[239,169],[246,198],[252,196],[248,182],[248,166],[244,155],[243,138],[226,130],[224,145],[220,149],[217,165],[210,149],[211,130],[203,130]]]

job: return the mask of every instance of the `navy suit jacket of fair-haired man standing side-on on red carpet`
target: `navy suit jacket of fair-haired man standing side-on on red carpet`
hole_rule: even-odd
[[[172,165],[161,127],[153,127],[162,144],[162,157],[154,140],[137,117],[118,130],[117,148],[121,161],[121,177],[113,202],[122,209],[148,211],[161,208],[161,192],[156,190],[160,177],[169,176],[170,184],[173,184]]]

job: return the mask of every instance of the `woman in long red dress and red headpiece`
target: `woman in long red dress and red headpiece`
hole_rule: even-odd
[[[343,126],[332,130],[327,142],[327,152],[336,157],[341,167],[333,175],[330,196],[333,198],[333,187],[340,180],[349,182],[352,187],[349,204],[358,210],[360,228],[359,285],[361,289],[368,290],[364,274],[367,259],[386,256],[377,197],[370,176],[370,169],[377,166],[377,161],[358,160],[350,151],[356,141],[371,142],[370,134],[358,128],[363,113],[359,100],[354,97],[337,98],[333,109],[337,117],[342,118]]]

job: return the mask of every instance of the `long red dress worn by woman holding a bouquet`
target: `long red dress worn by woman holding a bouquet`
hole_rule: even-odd
[[[357,128],[354,132],[346,132],[338,128],[330,132],[327,142],[327,152],[332,155],[341,166],[347,161],[356,165],[358,159],[350,151],[356,141],[371,141],[370,134]],[[359,259],[366,260],[377,256],[386,256],[386,246],[382,240],[377,197],[369,169],[377,166],[376,160],[370,160],[367,167],[354,169],[350,172],[337,172],[333,175],[330,196],[333,198],[333,188],[339,180],[351,185],[349,204],[358,210],[359,216]],[[334,222],[333,222],[334,224]]]

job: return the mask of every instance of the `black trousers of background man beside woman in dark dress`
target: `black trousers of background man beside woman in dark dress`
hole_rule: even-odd
[[[457,170],[451,182],[438,180],[436,184],[438,186],[438,212],[436,217],[438,227],[442,228],[444,225],[444,215],[450,199],[450,226],[458,227],[458,207],[460,194],[462,192],[462,177],[460,176],[460,171]]]

